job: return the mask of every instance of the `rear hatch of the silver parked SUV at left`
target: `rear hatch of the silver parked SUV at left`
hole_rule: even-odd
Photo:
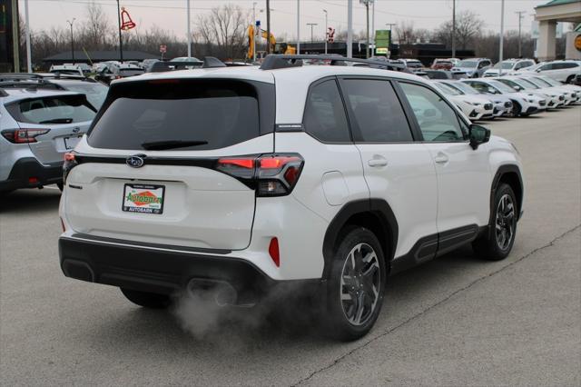
[[[62,162],[64,153],[78,144],[96,114],[83,94],[41,95],[5,107],[20,127],[18,141],[28,143],[42,164]]]

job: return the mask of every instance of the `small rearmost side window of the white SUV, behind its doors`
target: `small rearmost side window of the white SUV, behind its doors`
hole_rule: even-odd
[[[323,143],[350,143],[347,116],[335,80],[310,89],[304,124],[307,133]]]

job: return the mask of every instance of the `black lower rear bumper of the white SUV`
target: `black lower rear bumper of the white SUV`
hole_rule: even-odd
[[[237,303],[256,303],[274,288],[313,293],[321,283],[275,281],[252,263],[231,256],[147,248],[123,241],[61,237],[58,247],[65,276],[141,292],[172,294],[186,289],[192,279],[205,279],[229,283],[238,294]]]

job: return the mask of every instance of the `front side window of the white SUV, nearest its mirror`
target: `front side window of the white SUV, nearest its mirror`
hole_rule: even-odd
[[[456,111],[438,94],[418,84],[401,83],[404,94],[416,114],[425,141],[463,141]]]

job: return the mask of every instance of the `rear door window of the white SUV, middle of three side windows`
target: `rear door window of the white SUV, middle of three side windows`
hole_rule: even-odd
[[[398,96],[388,81],[350,79],[345,81],[347,103],[354,115],[357,141],[400,143],[413,141],[408,120]]]

